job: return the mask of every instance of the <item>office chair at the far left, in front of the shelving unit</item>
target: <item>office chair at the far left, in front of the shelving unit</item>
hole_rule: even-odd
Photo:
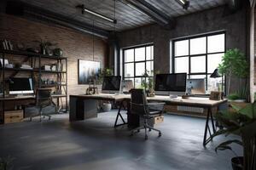
[[[35,106],[38,108],[38,114],[40,116],[40,122],[42,121],[42,116],[48,116],[48,114],[43,113],[43,109],[47,106],[55,105],[52,101],[51,97],[51,89],[50,88],[38,88],[36,93],[36,104]],[[32,121],[32,117],[30,116],[30,121]]]

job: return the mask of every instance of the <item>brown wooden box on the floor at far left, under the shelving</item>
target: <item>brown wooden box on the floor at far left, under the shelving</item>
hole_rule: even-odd
[[[4,123],[22,122],[23,110],[4,111]]]

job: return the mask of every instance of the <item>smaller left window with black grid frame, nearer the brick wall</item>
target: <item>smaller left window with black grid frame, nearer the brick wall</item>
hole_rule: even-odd
[[[123,50],[123,77],[132,80],[135,88],[141,88],[144,74],[154,76],[154,46],[146,45]]]

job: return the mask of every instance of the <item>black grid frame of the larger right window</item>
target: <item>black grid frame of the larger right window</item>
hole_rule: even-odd
[[[224,34],[224,51],[223,52],[214,52],[214,53],[208,53],[208,37],[211,36],[217,36],[220,34]],[[205,54],[190,54],[190,40],[194,39],[194,38],[201,38],[201,37],[206,37],[206,53]],[[208,76],[210,76],[212,73],[208,73],[208,55],[211,54],[224,54],[226,52],[226,31],[214,31],[211,33],[204,33],[204,34],[200,34],[200,35],[196,35],[196,36],[188,36],[188,37],[181,37],[181,38],[175,38],[172,39],[172,72],[175,73],[175,59],[176,58],[180,58],[180,57],[189,57],[189,74],[188,74],[188,78],[190,78],[190,76],[206,76],[206,90],[208,88]],[[189,54],[188,55],[181,55],[181,56],[175,56],[175,42],[179,42],[179,41],[183,41],[183,40],[189,40]],[[191,73],[191,57],[200,57],[200,56],[206,56],[206,71],[205,72],[194,72]],[[225,94],[226,92],[226,78],[223,77],[223,84],[222,84],[222,89],[223,92]],[[201,94],[201,95],[209,95],[209,94]]]

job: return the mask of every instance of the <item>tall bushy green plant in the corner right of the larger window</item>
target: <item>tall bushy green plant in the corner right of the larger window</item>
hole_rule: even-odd
[[[247,76],[249,75],[249,64],[245,55],[238,48],[229,49],[222,57],[221,64],[218,65],[218,71],[228,77],[227,94],[231,95],[231,99],[247,99]],[[239,88],[236,95],[230,94],[231,76],[238,77],[240,80]]]

